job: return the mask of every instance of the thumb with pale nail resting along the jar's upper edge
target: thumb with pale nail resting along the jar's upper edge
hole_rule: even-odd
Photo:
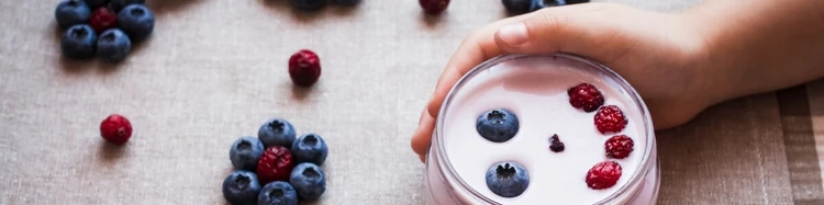
[[[581,7],[538,10],[523,21],[501,26],[495,33],[495,43],[505,53],[597,55],[593,52],[604,49],[603,42],[615,37],[616,25],[614,20],[592,13],[599,10]]]

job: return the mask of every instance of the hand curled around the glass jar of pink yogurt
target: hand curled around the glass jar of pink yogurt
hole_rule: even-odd
[[[705,58],[700,22],[605,3],[543,9],[494,22],[469,35],[452,57],[412,136],[423,160],[435,117],[456,81],[501,54],[564,52],[614,69],[644,98],[657,128],[683,124],[708,106],[697,72]]]

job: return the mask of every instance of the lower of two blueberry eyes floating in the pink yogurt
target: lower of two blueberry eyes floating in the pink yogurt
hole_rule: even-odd
[[[530,174],[515,162],[501,162],[487,171],[487,186],[503,197],[515,197],[530,186]]]

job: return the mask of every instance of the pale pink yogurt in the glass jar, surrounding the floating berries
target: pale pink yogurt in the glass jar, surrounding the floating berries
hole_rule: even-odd
[[[604,105],[619,106],[628,119],[617,134],[595,129],[595,112],[569,104],[567,90],[595,86]],[[505,143],[481,137],[475,123],[493,109],[512,111],[517,134]],[[566,149],[549,150],[557,134]],[[624,159],[610,159],[604,141],[613,135],[635,141]],[[604,190],[587,186],[587,171],[614,160],[623,169],[617,184]],[[515,197],[492,193],[485,174],[493,164],[514,161],[530,174],[530,185]],[[430,204],[655,204],[658,193],[655,133],[646,105],[635,90],[604,66],[566,54],[506,55],[467,73],[447,95],[437,117],[426,160]]]

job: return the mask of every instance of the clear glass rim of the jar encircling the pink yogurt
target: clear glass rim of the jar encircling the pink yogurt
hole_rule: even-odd
[[[656,150],[656,141],[655,141],[655,129],[653,126],[652,116],[649,115],[649,111],[647,109],[646,103],[644,103],[641,95],[635,91],[633,87],[630,86],[630,83],[621,77],[617,72],[613,71],[612,69],[608,68],[606,66],[603,66],[601,64],[594,62],[589,59],[584,59],[582,57],[572,55],[572,54],[566,54],[566,53],[550,53],[550,54],[506,54],[501,55],[494,58],[491,58],[487,61],[481,62],[480,65],[476,66],[471,70],[469,70],[464,77],[461,77],[455,86],[449,90],[449,92],[446,94],[446,98],[444,99],[444,102],[441,105],[441,111],[437,115],[437,122],[435,125],[435,135],[436,135],[436,147],[434,147],[439,156],[436,156],[436,162],[439,163],[442,172],[445,171],[446,174],[448,174],[452,179],[454,179],[457,182],[457,185],[465,192],[468,192],[471,196],[475,197],[475,200],[479,200],[489,204],[501,204],[499,202],[495,202],[492,198],[489,198],[485,196],[483,194],[480,194],[478,191],[469,186],[469,184],[464,181],[463,178],[455,171],[455,169],[452,167],[450,163],[448,163],[449,157],[446,152],[446,148],[444,146],[444,134],[443,134],[443,127],[444,127],[444,117],[446,116],[447,107],[452,100],[454,99],[456,91],[458,91],[460,88],[463,88],[469,79],[472,79],[472,77],[477,76],[483,70],[487,70],[495,65],[499,65],[501,62],[520,59],[520,58],[532,58],[532,57],[559,57],[559,58],[566,58],[571,59],[575,61],[587,64],[593,68],[599,69],[603,73],[605,73],[609,78],[612,78],[612,80],[615,80],[621,89],[627,92],[630,95],[630,100],[635,104],[641,112],[642,121],[644,124],[644,130],[645,130],[645,137],[647,139],[647,146],[644,150],[644,155],[642,157],[641,163],[638,163],[638,168],[636,171],[632,174],[631,179],[622,185],[617,191],[615,191],[613,194],[609,195],[608,197],[599,201],[595,204],[605,204],[611,203],[616,200],[620,200],[621,196],[624,196],[626,192],[633,191],[634,187],[637,187],[637,184],[643,183],[643,180],[646,176],[646,173],[649,172],[649,170],[653,168],[653,162],[656,162],[657,159],[650,159],[653,155],[653,151]],[[432,147],[430,148],[432,149]]]

